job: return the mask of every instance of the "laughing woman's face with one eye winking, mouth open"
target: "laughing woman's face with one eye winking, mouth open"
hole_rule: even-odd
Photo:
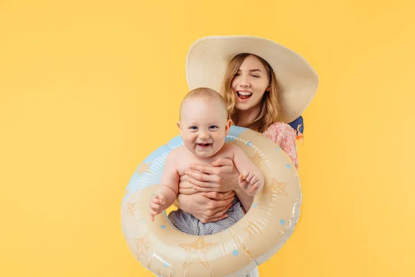
[[[237,109],[257,110],[262,96],[269,90],[268,72],[264,64],[254,55],[248,55],[234,75],[231,87],[237,99]]]

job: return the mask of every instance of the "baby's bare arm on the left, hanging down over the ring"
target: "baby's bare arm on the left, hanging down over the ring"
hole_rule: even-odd
[[[176,156],[177,154],[174,150],[167,155],[160,184],[157,187],[156,193],[150,199],[149,213],[151,221],[154,221],[156,215],[165,211],[176,200],[179,180]]]

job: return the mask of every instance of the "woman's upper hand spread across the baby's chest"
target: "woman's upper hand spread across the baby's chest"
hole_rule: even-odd
[[[225,192],[239,188],[239,172],[231,159],[217,159],[212,166],[191,164],[185,172],[193,189],[201,192]]]

